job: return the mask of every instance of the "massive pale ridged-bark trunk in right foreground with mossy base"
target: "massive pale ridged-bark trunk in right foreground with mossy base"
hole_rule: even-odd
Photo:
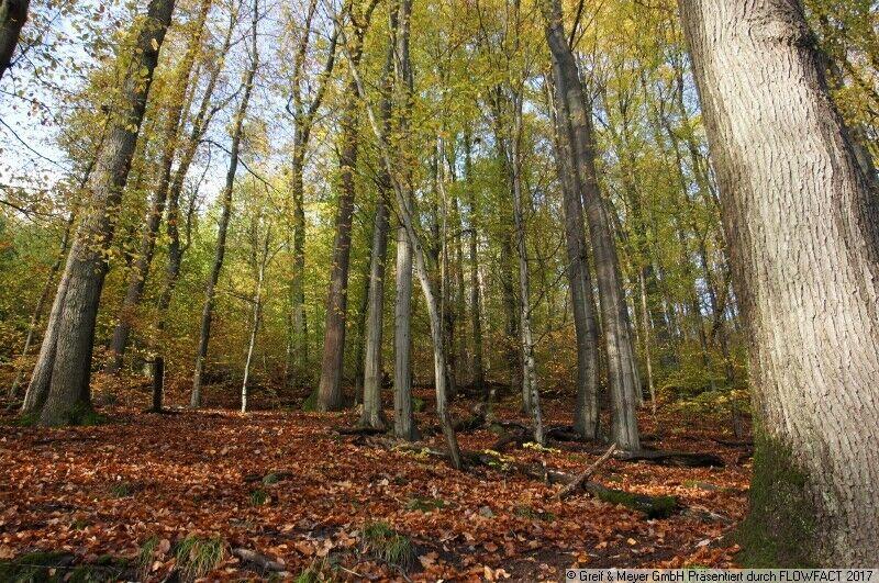
[[[748,330],[757,450],[745,550],[879,557],[879,186],[795,0],[682,0]]]

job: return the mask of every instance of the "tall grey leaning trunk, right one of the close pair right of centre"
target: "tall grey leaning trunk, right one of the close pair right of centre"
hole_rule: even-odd
[[[591,112],[587,109],[589,101],[565,34],[559,0],[542,0],[541,8],[546,21],[546,41],[553,56],[553,81],[558,96],[557,119],[572,146],[572,166],[583,199],[596,262],[611,393],[611,434],[621,449],[636,451],[641,449],[636,416],[641,383],[612,225],[598,184]]]

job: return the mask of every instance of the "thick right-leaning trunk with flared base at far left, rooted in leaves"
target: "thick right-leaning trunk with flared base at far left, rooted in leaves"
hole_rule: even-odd
[[[78,423],[91,410],[89,380],[98,304],[107,274],[107,253],[113,240],[122,191],[137,145],[158,51],[171,20],[174,0],[152,0],[132,48],[132,61],[119,104],[111,112],[105,141],[98,154],[64,277],[27,389],[24,411],[40,408],[40,423]]]

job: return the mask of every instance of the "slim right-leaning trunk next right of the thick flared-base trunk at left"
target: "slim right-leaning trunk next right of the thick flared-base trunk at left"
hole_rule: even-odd
[[[108,367],[109,372],[119,372],[125,355],[125,347],[129,344],[131,334],[132,318],[146,287],[146,278],[149,274],[149,265],[153,262],[153,253],[156,248],[156,236],[162,223],[162,215],[165,212],[165,202],[168,198],[168,188],[171,181],[171,166],[174,165],[175,154],[177,153],[178,135],[180,133],[180,121],[183,114],[185,96],[190,85],[192,67],[196,57],[201,51],[201,37],[204,31],[204,22],[211,9],[212,0],[201,0],[201,7],[196,20],[194,31],[189,37],[189,43],[183,54],[183,58],[178,66],[176,78],[170,91],[165,99],[170,103],[166,112],[165,125],[162,130],[162,160],[160,173],[156,190],[153,194],[153,202],[144,224],[141,248],[134,260],[133,269],[129,273],[129,284],[125,298],[119,312],[119,323],[113,330],[113,338],[110,341],[110,352],[112,360]],[[194,81],[193,81],[194,85]]]

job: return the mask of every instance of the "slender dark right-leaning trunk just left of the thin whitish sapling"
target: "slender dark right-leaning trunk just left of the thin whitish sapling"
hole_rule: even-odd
[[[251,66],[244,74],[242,87],[244,88],[244,96],[242,97],[238,110],[235,112],[235,119],[232,130],[232,146],[230,147],[229,170],[226,171],[226,182],[223,187],[223,192],[220,195],[221,204],[223,206],[220,215],[220,224],[216,235],[216,249],[214,251],[213,266],[211,267],[211,274],[208,279],[208,284],[204,289],[204,307],[201,312],[201,328],[199,333],[199,346],[196,352],[196,369],[192,374],[192,394],[189,400],[189,405],[193,408],[201,406],[201,386],[202,377],[204,374],[204,361],[208,358],[208,344],[211,338],[211,319],[213,318],[213,304],[216,293],[216,282],[220,280],[220,271],[223,269],[223,260],[226,254],[226,235],[229,232],[229,221],[232,216],[232,192],[235,186],[235,173],[238,169],[238,154],[241,149],[241,137],[244,130],[244,119],[247,115],[247,106],[251,102],[251,94],[254,89],[254,77],[256,69],[259,66],[259,52],[256,42],[256,25],[258,14],[257,4],[254,2],[254,14],[252,22],[252,40],[253,53],[251,55]]]

